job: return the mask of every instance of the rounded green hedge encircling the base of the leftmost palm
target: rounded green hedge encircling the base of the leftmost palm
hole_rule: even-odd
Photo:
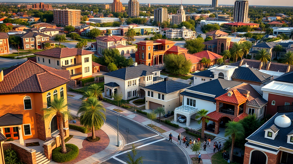
[[[61,153],[62,146],[59,146],[52,150],[52,159],[55,162],[69,162],[74,160],[79,153],[79,149],[74,144],[65,144],[67,153]]]

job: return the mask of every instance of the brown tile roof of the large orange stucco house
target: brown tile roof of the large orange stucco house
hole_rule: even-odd
[[[65,74],[67,78],[70,76],[66,70],[57,70],[28,60],[4,75],[0,82],[0,94],[44,93],[68,83],[66,77],[60,76]]]

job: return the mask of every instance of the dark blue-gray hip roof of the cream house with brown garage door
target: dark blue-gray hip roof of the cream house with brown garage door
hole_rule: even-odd
[[[167,93],[172,93],[184,88],[188,88],[190,86],[191,85],[189,84],[181,83],[174,80],[168,80],[168,81],[161,81],[159,83],[155,83],[149,86],[145,86],[143,88],[167,94]]]

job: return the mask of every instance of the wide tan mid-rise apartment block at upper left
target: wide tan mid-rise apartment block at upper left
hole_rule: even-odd
[[[53,10],[54,23],[62,26],[78,26],[80,24],[80,10],[55,9]]]

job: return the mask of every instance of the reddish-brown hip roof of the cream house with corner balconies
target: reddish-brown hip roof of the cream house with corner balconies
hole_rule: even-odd
[[[52,48],[49,50],[34,53],[35,55],[50,56],[56,58],[70,57],[75,55],[93,54],[91,51],[81,50],[78,48]]]

